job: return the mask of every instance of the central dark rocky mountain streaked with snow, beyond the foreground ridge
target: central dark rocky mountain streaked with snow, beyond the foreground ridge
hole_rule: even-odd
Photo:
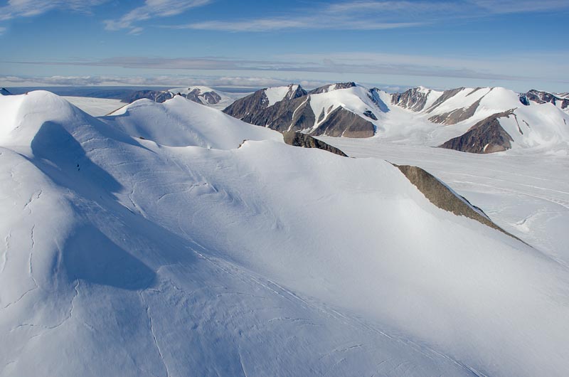
[[[309,92],[300,85],[265,88],[236,100],[223,111],[279,132],[371,137],[376,132],[376,114],[385,110],[375,89],[339,83]]]

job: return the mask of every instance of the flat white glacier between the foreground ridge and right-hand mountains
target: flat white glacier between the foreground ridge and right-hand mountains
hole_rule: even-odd
[[[420,166],[484,209],[501,228],[569,266],[569,179],[565,154],[513,149],[469,154],[382,139],[319,137],[356,158]]]

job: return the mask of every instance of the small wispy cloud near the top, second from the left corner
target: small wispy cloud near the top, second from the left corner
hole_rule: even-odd
[[[212,0],[146,0],[144,5],[132,9],[117,19],[105,20],[105,29],[109,31],[128,30],[131,34],[141,33],[142,21],[182,14],[188,9],[210,4]]]

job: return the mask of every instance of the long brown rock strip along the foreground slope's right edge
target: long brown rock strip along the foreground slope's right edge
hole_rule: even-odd
[[[510,233],[506,232],[506,230],[494,224],[480,208],[472,206],[472,204],[470,204],[466,198],[458,196],[447,186],[445,186],[445,184],[442,184],[441,181],[439,181],[437,178],[435,178],[435,176],[432,176],[432,174],[428,173],[427,171],[421,169],[418,166],[394,166],[396,166],[401,171],[401,173],[403,173],[407,179],[409,179],[409,181],[415,185],[418,190],[421,191],[422,194],[425,195],[425,197],[438,208],[452,212],[457,216],[466,216],[467,218],[472,218],[479,223],[487,225],[490,228],[494,228],[501,231],[502,233],[516,238],[514,235],[511,235]],[[519,238],[516,239],[519,240]]]

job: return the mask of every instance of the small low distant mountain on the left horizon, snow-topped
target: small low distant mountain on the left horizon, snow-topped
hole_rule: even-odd
[[[154,102],[164,102],[173,98],[175,95],[181,95],[201,105],[222,110],[238,98],[247,94],[248,93],[222,92],[205,86],[174,87],[169,90],[137,90],[136,92],[132,92],[128,97],[125,97],[123,102],[131,103],[144,98]]]

